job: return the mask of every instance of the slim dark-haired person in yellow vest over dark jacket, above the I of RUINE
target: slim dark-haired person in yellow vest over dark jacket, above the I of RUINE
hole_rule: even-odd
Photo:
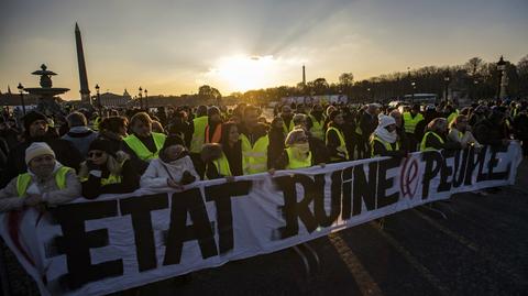
[[[349,157],[346,142],[343,134],[344,119],[343,114],[334,110],[329,116],[327,133],[324,136],[331,163],[345,162]]]

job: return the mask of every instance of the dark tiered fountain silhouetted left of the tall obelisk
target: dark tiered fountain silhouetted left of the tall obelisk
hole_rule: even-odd
[[[24,88],[24,90],[38,97],[36,109],[47,116],[62,113],[63,111],[61,110],[61,106],[57,103],[55,96],[68,91],[69,88],[52,87],[52,76],[57,74],[47,70],[47,67],[44,64],[42,64],[40,70],[35,70],[32,74],[41,76],[41,87],[28,87]]]

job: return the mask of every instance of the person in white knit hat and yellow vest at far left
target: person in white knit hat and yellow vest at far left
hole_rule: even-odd
[[[28,173],[20,174],[0,189],[0,212],[65,204],[80,197],[75,169],[63,166],[44,142],[33,142],[25,150]]]

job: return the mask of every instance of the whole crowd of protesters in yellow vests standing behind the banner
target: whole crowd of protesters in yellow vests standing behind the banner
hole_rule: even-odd
[[[436,106],[284,105],[156,110],[80,109],[66,117],[0,114],[0,211],[98,198],[140,187],[182,189],[200,180],[377,156],[522,144],[527,101]],[[20,198],[24,197],[24,198]]]

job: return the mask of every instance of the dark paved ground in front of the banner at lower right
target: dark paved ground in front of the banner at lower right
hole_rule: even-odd
[[[528,295],[528,161],[517,185],[460,194],[310,242],[320,271],[305,278],[292,250],[194,273],[142,295]]]

